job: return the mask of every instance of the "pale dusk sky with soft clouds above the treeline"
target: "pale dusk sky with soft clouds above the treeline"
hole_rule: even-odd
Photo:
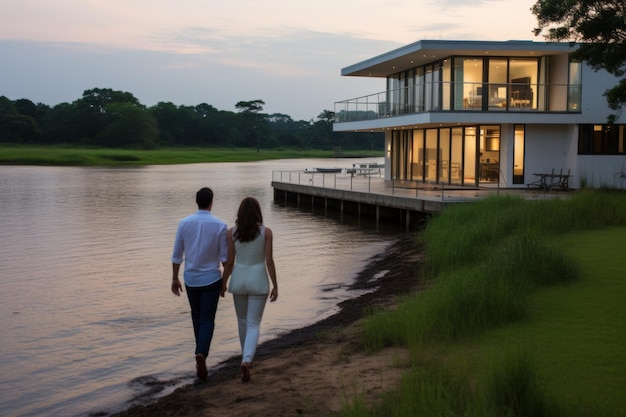
[[[425,39],[538,40],[535,0],[0,0],[0,96],[55,106],[92,88],[314,120],[385,90],[341,69]]]

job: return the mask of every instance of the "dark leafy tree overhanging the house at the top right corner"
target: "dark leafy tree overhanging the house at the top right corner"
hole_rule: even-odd
[[[549,41],[579,42],[572,58],[598,71],[626,74],[626,2],[623,0],[538,0],[531,8]],[[626,104],[626,78],[604,92],[609,107],[621,113]],[[609,116],[614,122],[617,115]]]

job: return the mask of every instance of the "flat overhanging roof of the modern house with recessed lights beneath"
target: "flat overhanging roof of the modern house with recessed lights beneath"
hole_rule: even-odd
[[[575,49],[569,42],[422,40],[342,68],[341,75],[387,77],[453,55],[539,57]]]

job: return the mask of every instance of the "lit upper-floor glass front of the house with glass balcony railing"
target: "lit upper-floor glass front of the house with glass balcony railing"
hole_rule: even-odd
[[[450,56],[388,76],[382,95],[337,103],[336,121],[424,111],[580,112],[581,64],[569,64],[562,84],[546,84],[549,64],[549,56]]]

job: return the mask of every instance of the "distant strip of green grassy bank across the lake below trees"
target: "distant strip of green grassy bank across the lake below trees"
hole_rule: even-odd
[[[381,152],[344,152],[345,157],[381,156]],[[268,159],[332,158],[332,151],[249,148],[164,148],[155,150],[93,149],[46,146],[2,146],[2,165],[141,166]]]

